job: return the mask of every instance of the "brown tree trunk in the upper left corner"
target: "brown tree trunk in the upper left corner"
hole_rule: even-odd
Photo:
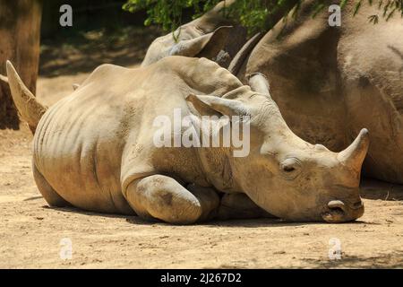
[[[12,61],[22,81],[35,94],[39,69],[42,0],[0,0],[0,74]],[[8,84],[0,79],[0,128],[19,128]]]

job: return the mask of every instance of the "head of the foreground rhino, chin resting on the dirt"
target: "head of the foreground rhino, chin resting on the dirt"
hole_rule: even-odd
[[[193,106],[250,117],[250,152],[227,154],[236,187],[268,213],[291,221],[347,222],[364,213],[359,196],[366,129],[342,152],[311,144],[287,126],[270,95],[244,86],[231,99],[194,96]]]

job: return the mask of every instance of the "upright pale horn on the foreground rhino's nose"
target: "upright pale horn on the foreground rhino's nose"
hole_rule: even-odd
[[[340,162],[356,171],[361,170],[363,161],[368,152],[369,135],[368,130],[363,128],[353,143],[346,150],[339,152],[338,159]]]

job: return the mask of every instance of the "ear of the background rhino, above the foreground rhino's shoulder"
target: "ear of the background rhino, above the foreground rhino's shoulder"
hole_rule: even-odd
[[[222,26],[197,38],[180,40],[171,48],[169,56],[216,57],[226,44],[228,34],[232,28],[232,26]]]

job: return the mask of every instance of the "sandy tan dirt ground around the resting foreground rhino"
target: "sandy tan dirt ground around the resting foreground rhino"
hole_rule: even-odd
[[[80,53],[59,62],[44,55],[39,100],[51,105],[85,79],[87,68],[72,65],[65,70],[69,58],[91,65]],[[122,48],[116,53],[120,59]],[[0,268],[403,267],[403,187],[365,180],[365,213],[357,222],[248,220],[170,226],[49,208],[31,175],[30,141],[24,125],[20,131],[0,130]],[[65,239],[72,242],[71,259],[60,256]],[[330,259],[337,242],[341,259]]]

